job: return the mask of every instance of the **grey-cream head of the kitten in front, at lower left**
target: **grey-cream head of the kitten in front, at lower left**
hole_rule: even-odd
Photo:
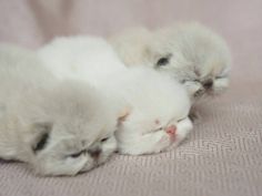
[[[117,112],[93,89],[67,83],[42,104],[30,125],[29,162],[42,175],[75,175],[104,163],[117,148]]]

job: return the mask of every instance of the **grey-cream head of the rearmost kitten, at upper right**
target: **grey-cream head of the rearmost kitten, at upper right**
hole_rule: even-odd
[[[193,101],[223,92],[229,85],[230,51],[222,38],[190,23],[155,33],[148,50],[154,69],[183,83]]]

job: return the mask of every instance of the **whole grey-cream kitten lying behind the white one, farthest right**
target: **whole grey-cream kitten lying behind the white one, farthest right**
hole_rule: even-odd
[[[148,65],[183,83],[192,101],[221,93],[229,85],[231,64],[225,41],[198,23],[149,31],[125,31],[111,39],[128,65]]]

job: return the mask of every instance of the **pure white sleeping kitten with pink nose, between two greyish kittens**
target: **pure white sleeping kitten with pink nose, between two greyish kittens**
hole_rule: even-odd
[[[184,89],[153,70],[127,69],[102,39],[57,39],[39,55],[58,78],[87,81],[125,110],[117,131],[120,153],[158,153],[178,144],[192,130]]]

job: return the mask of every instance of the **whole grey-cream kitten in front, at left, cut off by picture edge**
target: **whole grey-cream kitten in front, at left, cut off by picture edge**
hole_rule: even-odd
[[[117,110],[77,81],[58,82],[33,53],[0,47],[0,157],[41,175],[75,175],[117,149]]]

